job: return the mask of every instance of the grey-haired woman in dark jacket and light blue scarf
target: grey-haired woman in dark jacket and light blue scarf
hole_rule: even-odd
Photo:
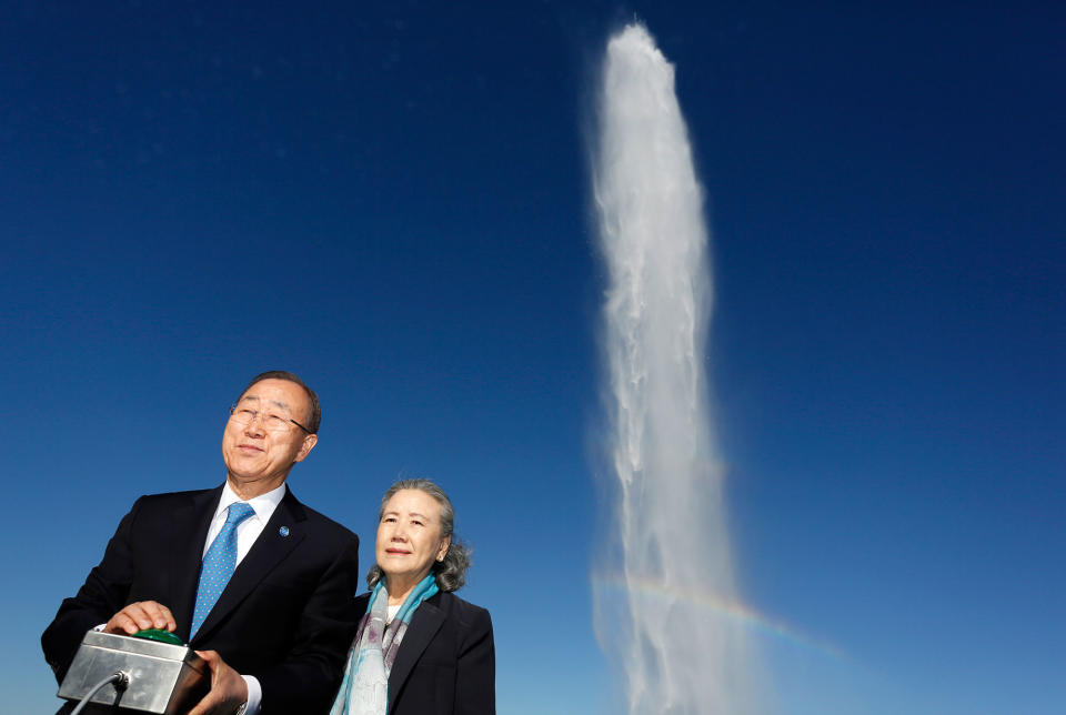
[[[495,649],[489,612],[453,595],[470,555],[454,543],[455,511],[429,480],[393,484],[378,515],[378,563],[331,715],[493,715]]]

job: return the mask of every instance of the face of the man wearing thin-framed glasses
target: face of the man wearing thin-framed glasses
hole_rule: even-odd
[[[280,486],[318,441],[290,422],[306,424],[310,412],[306,392],[293,382],[262,380],[249,387],[222,433],[222,459],[231,480],[257,494]]]

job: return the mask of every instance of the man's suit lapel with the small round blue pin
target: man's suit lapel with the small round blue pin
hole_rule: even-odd
[[[286,490],[285,496],[278,504],[278,508],[266,522],[259,538],[252,544],[248,555],[237,565],[222,595],[204,618],[203,625],[197,631],[195,641],[201,641],[203,636],[210,634],[215,625],[244,601],[266,574],[300,545],[300,542],[306,537],[306,520],[303,505],[296,501],[291,491]]]

